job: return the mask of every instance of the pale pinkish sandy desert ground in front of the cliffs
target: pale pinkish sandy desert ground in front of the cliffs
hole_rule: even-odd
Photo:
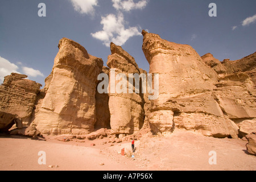
[[[46,137],[35,140],[19,136],[0,136],[0,170],[8,171],[179,171],[235,170],[255,171],[256,156],[246,151],[246,141],[218,139],[176,131],[165,137],[142,138],[135,142],[134,158],[122,156],[130,142],[105,143],[97,140],[63,142]],[[91,146],[94,143],[95,146]],[[105,143],[105,144],[104,144]],[[39,151],[46,152],[40,165]],[[216,152],[217,164],[209,164],[209,152]],[[51,166],[51,167],[49,167]]]

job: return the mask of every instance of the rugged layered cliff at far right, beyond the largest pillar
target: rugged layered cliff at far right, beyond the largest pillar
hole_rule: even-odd
[[[236,61],[220,62],[210,53],[202,59],[218,73],[215,100],[225,116],[237,124],[240,137],[255,132],[256,53]]]

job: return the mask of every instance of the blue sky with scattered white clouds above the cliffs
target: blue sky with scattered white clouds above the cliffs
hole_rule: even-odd
[[[39,17],[39,3],[46,17]],[[208,7],[216,3],[217,16]],[[255,0],[1,0],[0,82],[11,72],[44,85],[57,44],[75,40],[104,65],[109,43],[122,46],[140,68],[149,65],[142,52],[142,30],[170,42],[189,44],[200,56],[237,60],[256,50]]]

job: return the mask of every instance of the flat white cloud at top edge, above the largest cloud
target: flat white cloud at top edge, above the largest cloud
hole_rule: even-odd
[[[137,3],[134,2],[134,0],[112,0],[113,2],[113,7],[116,10],[125,10],[125,11],[130,11],[134,9],[143,9],[144,7],[147,6],[148,0],[141,0],[138,1]]]

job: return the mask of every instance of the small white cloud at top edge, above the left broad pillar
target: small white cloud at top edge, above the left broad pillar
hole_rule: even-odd
[[[94,6],[97,6],[98,0],[70,0],[74,9],[81,14],[94,15]]]

